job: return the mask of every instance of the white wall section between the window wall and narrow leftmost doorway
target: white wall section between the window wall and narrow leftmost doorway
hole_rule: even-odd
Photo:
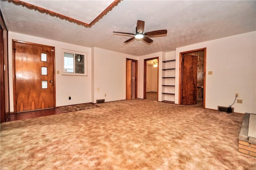
[[[126,99],[126,58],[138,60],[136,56],[94,47],[94,103],[98,99]]]

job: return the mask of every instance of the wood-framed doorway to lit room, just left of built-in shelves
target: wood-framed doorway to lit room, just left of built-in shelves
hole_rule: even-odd
[[[144,60],[143,99],[158,101],[158,61],[159,57]]]

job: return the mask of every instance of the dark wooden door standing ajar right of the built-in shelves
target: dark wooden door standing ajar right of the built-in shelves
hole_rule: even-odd
[[[182,103],[196,104],[198,57],[184,55],[182,58]]]

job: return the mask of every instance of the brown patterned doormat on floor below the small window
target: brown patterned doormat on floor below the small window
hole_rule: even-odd
[[[74,104],[69,106],[61,106],[59,107],[59,109],[63,113],[67,113],[67,112],[74,112],[78,110],[86,110],[86,109],[97,108],[97,107],[100,107],[100,106],[97,106],[96,104],[93,104],[93,103],[84,103],[84,104]]]

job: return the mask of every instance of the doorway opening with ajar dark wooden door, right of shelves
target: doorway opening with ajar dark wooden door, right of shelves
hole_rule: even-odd
[[[205,108],[206,48],[180,52],[179,104]]]

